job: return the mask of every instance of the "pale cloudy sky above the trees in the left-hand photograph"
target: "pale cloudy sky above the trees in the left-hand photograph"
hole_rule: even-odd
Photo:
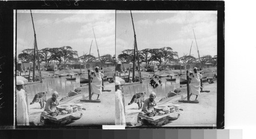
[[[32,10],[38,50],[70,46],[78,56],[115,55],[115,10]],[[96,36],[96,41],[93,34]],[[17,55],[33,49],[29,10],[17,10]]]

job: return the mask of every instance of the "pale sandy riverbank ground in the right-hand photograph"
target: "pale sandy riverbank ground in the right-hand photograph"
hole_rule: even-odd
[[[180,113],[180,118],[163,126],[214,126],[217,122],[217,80],[215,83],[209,84],[208,82],[204,84],[204,92],[198,97],[199,103],[179,103],[178,100],[185,98],[187,96],[186,86],[179,88],[181,92],[177,96],[161,100],[161,98],[156,97],[156,102],[158,105],[172,105],[178,104],[180,109],[183,111],[176,112]],[[209,91],[209,92],[206,92]],[[196,96],[191,96],[190,100],[195,100]],[[145,98],[147,99],[147,98]],[[125,119],[126,122],[130,122],[132,126],[141,126],[137,123],[137,115],[141,111],[138,110],[138,105],[133,103],[132,105],[125,106]]]

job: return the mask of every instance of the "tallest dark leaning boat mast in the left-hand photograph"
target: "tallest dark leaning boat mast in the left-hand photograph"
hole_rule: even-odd
[[[38,63],[38,73],[39,73],[39,77],[40,77],[40,81],[42,82],[42,77],[41,77],[41,71],[40,71],[40,62],[39,62],[39,55],[38,55],[38,49],[37,49],[37,42],[36,42],[36,34],[35,34],[35,27],[34,27],[34,21],[33,21],[33,16],[32,16],[32,12],[30,10],[30,14],[31,14],[31,18],[32,18],[32,24],[33,24],[33,29],[34,29],[34,39],[35,39],[35,43],[34,43],[34,68],[33,68],[33,82],[35,81],[35,50],[37,53],[37,63]]]

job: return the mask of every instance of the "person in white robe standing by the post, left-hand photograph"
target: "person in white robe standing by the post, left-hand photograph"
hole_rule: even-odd
[[[103,74],[101,72],[99,72],[99,67],[96,66],[95,67],[95,73],[92,74],[92,83],[91,83],[91,88],[92,88],[92,95],[93,94],[97,94],[98,98],[97,100],[99,100],[99,95],[102,94],[102,79],[103,79]]]

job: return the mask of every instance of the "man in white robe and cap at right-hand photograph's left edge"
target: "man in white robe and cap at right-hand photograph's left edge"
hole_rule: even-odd
[[[116,81],[116,115],[115,115],[115,125],[126,125],[124,107],[122,102],[122,91],[120,90],[120,82]]]

